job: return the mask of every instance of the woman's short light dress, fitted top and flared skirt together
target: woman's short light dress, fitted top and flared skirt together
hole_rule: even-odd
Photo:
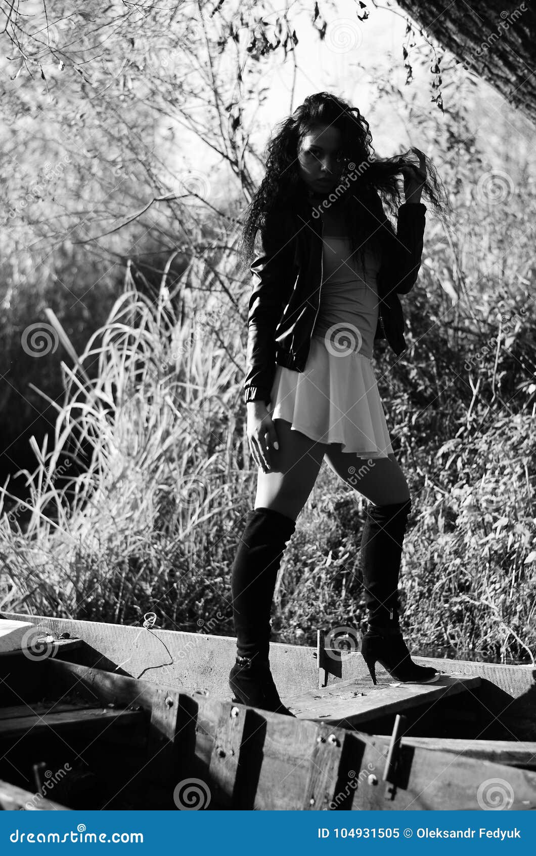
[[[303,372],[276,366],[268,413],[321,443],[342,443],[359,458],[386,458],[391,439],[374,376],[380,259],[326,235],[321,300]]]

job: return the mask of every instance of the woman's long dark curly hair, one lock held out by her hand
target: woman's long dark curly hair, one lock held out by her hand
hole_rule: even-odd
[[[415,166],[415,154],[409,149],[392,158],[377,158],[367,120],[357,107],[329,92],[316,92],[305,98],[292,113],[275,126],[274,134],[265,151],[266,172],[261,185],[250,201],[244,224],[239,234],[237,253],[239,263],[249,267],[254,257],[257,229],[272,211],[305,211],[308,204],[308,187],[299,174],[297,155],[304,137],[318,125],[337,128],[341,134],[341,150],[345,164],[335,188],[336,205],[340,205],[346,234],[350,237],[352,255],[361,248],[364,265],[364,248],[381,250],[382,229],[378,217],[368,214],[370,194],[376,192],[393,217],[401,204],[403,179],[400,170]],[[427,177],[422,195],[440,217],[451,215],[445,188],[433,163],[425,155]],[[368,202],[367,202],[368,198]],[[309,208],[310,210],[310,208]],[[378,211],[376,207],[376,211]],[[367,216],[368,215],[368,216]],[[380,212],[384,226],[394,234],[392,223],[385,211]]]

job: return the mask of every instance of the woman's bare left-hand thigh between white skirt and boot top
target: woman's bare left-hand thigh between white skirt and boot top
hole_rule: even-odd
[[[274,508],[297,519],[315,486],[327,443],[318,443],[291,428],[286,419],[274,419],[279,450],[270,448],[272,468],[259,467],[255,508]]]

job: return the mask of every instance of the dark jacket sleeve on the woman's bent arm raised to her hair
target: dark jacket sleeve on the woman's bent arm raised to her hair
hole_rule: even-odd
[[[398,208],[398,223],[395,233],[383,210],[380,196],[374,194],[371,213],[384,227],[384,253],[379,275],[386,277],[386,292],[408,294],[413,288],[421,267],[424,246],[427,206],[422,202],[404,202]]]

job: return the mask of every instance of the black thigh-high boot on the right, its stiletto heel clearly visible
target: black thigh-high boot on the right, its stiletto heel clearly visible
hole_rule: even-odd
[[[376,663],[395,681],[432,683],[438,679],[436,669],[413,662],[398,620],[398,577],[410,509],[411,499],[391,505],[369,502],[367,507],[361,556],[368,626],[362,656],[374,684]]]

